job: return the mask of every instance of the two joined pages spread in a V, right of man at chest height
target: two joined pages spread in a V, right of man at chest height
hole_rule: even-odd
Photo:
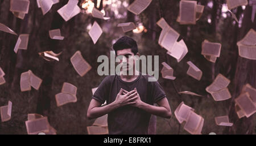
[[[210,84],[205,90],[212,95],[215,101],[228,100],[232,96],[227,88],[230,80],[225,76],[218,74],[213,83]]]

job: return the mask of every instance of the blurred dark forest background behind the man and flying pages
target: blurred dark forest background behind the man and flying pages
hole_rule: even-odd
[[[46,15],[37,7],[36,1],[30,1],[30,8],[25,18],[18,19],[9,11],[10,1],[0,1],[0,23],[13,29],[17,34],[29,33],[27,50],[19,50],[15,54],[13,49],[18,36],[0,32],[0,67],[5,71],[6,83],[0,86],[0,106],[6,105],[8,100],[13,102],[11,120],[0,123],[0,134],[27,134],[25,121],[28,113],[39,113],[48,117],[49,123],[57,130],[57,134],[87,134],[86,126],[91,126],[94,120],[86,119],[86,111],[92,97],[91,89],[97,87],[105,76],[97,74],[97,57],[110,55],[113,43],[122,36],[133,37],[142,55],[159,55],[159,63],[167,62],[174,68],[176,80],[159,78],[171,105],[172,113],[181,101],[195,109],[204,118],[202,134],[215,132],[216,134],[255,134],[255,114],[251,117],[238,119],[234,111],[234,98],[241,93],[246,83],[256,87],[256,61],[238,56],[237,41],[246,33],[256,29],[256,19],[251,21],[254,4],[240,6],[232,11],[236,14],[237,23],[228,12],[224,0],[199,0],[204,5],[204,13],[196,25],[180,25],[176,22],[179,13],[179,1],[153,0],[139,15],[127,11],[133,0],[94,0],[94,7],[109,16],[109,20],[93,18],[88,12],[82,12],[65,22],[57,13],[68,0],[60,0],[52,6]],[[79,3],[82,3],[80,0]],[[98,7],[97,7],[98,3]],[[82,9],[81,5],[80,8]],[[177,63],[175,58],[166,54],[166,49],[158,45],[160,27],[156,22],[160,18],[180,33],[187,47],[188,54]],[[102,35],[94,45],[88,31],[94,21],[101,25]],[[131,31],[123,33],[117,27],[118,23],[134,22],[141,25],[141,33]],[[142,27],[143,26],[143,27]],[[48,36],[51,29],[61,29],[63,41],[52,40]],[[201,42],[205,39],[222,44],[220,58],[216,63],[208,62],[201,55]],[[40,58],[41,51],[52,50],[55,53],[63,51],[59,62],[47,62]],[[70,58],[80,50],[82,56],[92,66],[85,76],[80,77],[74,70]],[[203,77],[197,81],[186,74],[187,61],[192,61],[203,71]],[[162,65],[159,65],[159,70]],[[32,89],[20,92],[20,74],[32,70],[35,75],[43,79],[39,91]],[[232,98],[225,101],[214,101],[205,91],[218,74],[230,79],[229,91]],[[77,102],[56,106],[55,95],[61,91],[64,82],[78,87]],[[203,95],[195,97],[179,95],[179,91],[192,91]],[[214,117],[229,115],[232,127],[217,126]],[[177,122],[174,114],[171,119],[158,117],[156,120],[156,134],[188,134],[183,130],[184,124]]]

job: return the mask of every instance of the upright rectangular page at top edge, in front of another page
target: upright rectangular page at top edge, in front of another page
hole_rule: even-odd
[[[180,23],[196,24],[196,1],[180,1]]]

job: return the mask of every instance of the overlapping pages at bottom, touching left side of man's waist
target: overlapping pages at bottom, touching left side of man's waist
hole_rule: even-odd
[[[109,134],[108,114],[105,114],[102,117],[97,118],[92,126],[87,127],[87,131],[88,134],[92,135]]]

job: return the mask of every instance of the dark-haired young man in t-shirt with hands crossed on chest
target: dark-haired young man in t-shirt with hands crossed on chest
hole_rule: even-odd
[[[139,56],[137,42],[123,36],[113,45],[116,55],[131,59]],[[134,69],[135,59],[127,62],[119,75],[107,76],[92,96],[87,111],[89,119],[108,114],[109,134],[147,134],[151,114],[171,117],[171,109],[158,81],[148,81],[149,75],[141,75]],[[125,59],[120,59],[123,63]],[[127,73],[127,74],[124,74]],[[101,106],[106,101],[105,106]],[[158,106],[154,106],[154,103]]]

